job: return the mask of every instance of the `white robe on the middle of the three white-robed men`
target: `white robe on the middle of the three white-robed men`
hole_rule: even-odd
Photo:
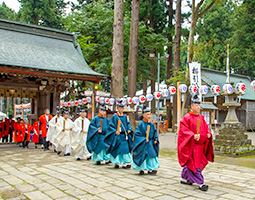
[[[62,147],[71,145],[73,135],[76,135],[77,132],[77,128],[75,128],[75,124],[72,120],[60,120],[56,124],[56,137],[53,142],[54,144]]]

